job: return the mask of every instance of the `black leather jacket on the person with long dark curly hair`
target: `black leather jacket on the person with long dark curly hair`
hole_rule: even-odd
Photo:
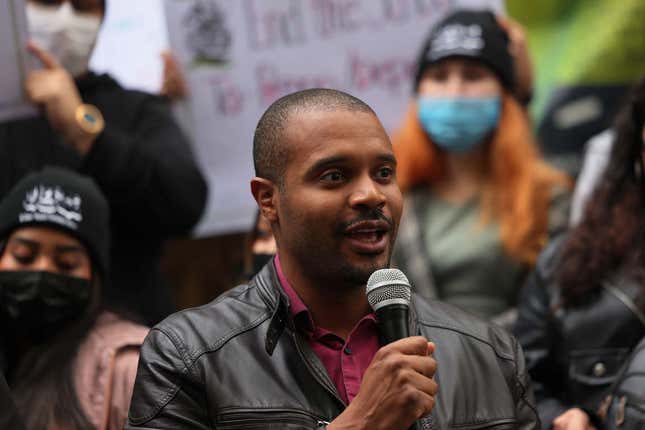
[[[540,255],[522,292],[514,328],[545,429],[571,407],[584,409],[598,424],[595,411],[645,335],[645,324],[628,307],[640,287],[626,276],[608,277],[583,306],[559,306],[553,278],[565,239],[558,237]]]

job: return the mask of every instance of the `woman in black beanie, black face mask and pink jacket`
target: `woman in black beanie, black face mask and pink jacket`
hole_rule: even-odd
[[[107,309],[108,205],[47,167],[0,202],[0,373],[27,430],[122,429],[148,329]]]

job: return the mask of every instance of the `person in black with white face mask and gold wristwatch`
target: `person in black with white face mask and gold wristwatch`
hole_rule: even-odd
[[[41,115],[0,124],[0,197],[46,163],[91,176],[113,214],[106,299],[153,324],[174,310],[162,242],[190,231],[207,189],[168,100],[88,71],[104,12],[103,0],[27,1],[28,49],[42,69],[25,90]]]

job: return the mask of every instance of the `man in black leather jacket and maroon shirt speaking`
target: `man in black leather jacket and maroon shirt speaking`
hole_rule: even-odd
[[[415,296],[414,336],[381,346],[366,285],[389,265],[402,198],[369,106],[327,89],[283,97],[260,119],[253,159],[277,256],[153,328],[127,429],[539,428],[503,330]]]

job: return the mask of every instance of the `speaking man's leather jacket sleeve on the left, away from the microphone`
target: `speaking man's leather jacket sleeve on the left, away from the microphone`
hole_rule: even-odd
[[[153,328],[141,348],[126,430],[211,429],[203,381],[172,332]]]

